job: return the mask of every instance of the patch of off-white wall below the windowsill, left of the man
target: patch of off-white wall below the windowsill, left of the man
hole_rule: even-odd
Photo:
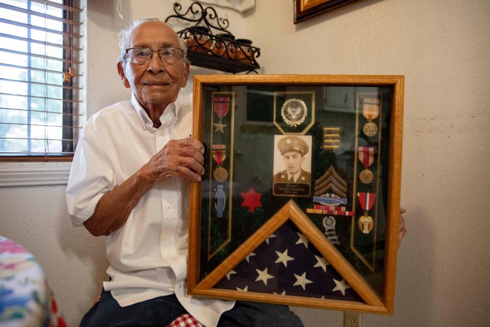
[[[107,261],[103,238],[71,227],[66,186],[0,189],[0,235],[31,251],[44,269],[69,326],[100,293]]]

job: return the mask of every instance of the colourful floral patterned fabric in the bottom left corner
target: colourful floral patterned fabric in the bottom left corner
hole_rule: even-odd
[[[65,327],[34,255],[0,236],[0,327]]]

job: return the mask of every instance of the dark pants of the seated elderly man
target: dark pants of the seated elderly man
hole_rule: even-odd
[[[103,290],[100,301],[85,314],[80,326],[166,326],[186,312],[174,294],[122,308],[111,292]],[[262,326],[302,327],[303,323],[287,306],[246,301],[236,301],[218,321],[218,327]]]

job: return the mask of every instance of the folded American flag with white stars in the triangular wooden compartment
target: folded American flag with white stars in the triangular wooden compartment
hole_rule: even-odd
[[[291,221],[233,267],[214,288],[362,301]]]

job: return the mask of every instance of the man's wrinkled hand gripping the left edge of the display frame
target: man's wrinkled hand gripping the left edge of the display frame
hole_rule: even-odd
[[[142,167],[153,182],[161,182],[174,176],[201,181],[204,174],[204,147],[190,137],[169,141],[146,165]]]

